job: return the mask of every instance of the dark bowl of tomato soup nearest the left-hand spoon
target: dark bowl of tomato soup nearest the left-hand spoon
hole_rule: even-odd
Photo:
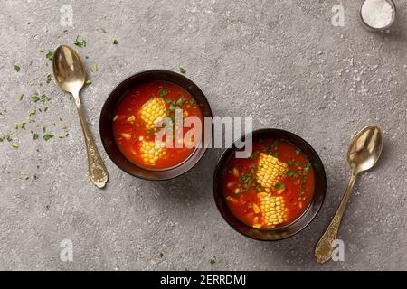
[[[100,136],[120,169],[147,180],[189,171],[204,155],[204,93],[185,76],[147,70],[114,89],[100,114]]]

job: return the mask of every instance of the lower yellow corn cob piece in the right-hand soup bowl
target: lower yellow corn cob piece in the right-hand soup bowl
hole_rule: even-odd
[[[289,209],[286,208],[283,197],[273,197],[267,192],[260,192],[257,197],[260,200],[262,226],[274,227],[287,221]]]

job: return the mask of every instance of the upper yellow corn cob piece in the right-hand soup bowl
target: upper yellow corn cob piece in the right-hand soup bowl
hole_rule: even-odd
[[[279,162],[270,154],[260,154],[259,170],[256,172],[257,182],[264,188],[274,187],[289,172],[287,163]]]

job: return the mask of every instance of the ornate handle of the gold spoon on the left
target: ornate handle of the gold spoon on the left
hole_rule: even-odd
[[[80,126],[82,126],[83,135],[85,136],[86,151],[88,153],[88,166],[90,173],[90,180],[99,189],[105,187],[109,179],[108,170],[106,169],[105,163],[100,157],[98,152],[98,147],[93,141],[92,135],[90,134],[90,129],[86,122],[85,115],[82,111],[82,106],[80,103],[79,92],[73,94],[75,98],[75,104],[78,110],[78,115],[80,117]]]

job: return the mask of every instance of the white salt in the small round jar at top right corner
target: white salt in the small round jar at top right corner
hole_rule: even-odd
[[[364,22],[376,29],[383,29],[393,21],[393,6],[386,0],[366,0],[362,5]]]

